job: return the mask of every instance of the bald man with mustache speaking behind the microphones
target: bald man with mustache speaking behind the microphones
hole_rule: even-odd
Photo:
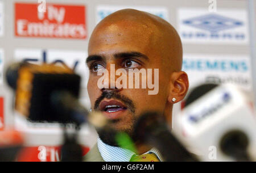
[[[171,128],[173,104],[184,98],[189,84],[187,74],[181,71],[183,50],[180,37],[170,23],[147,12],[119,10],[94,28],[88,55],[88,94],[92,111],[101,111],[114,130],[129,135],[133,133],[138,117],[148,111],[160,112]],[[98,87],[101,78],[98,71],[111,71],[113,65],[115,69],[127,71],[159,69],[157,93],[148,94],[152,88],[110,87],[111,81],[117,80],[111,76],[108,87]],[[85,155],[84,161],[129,162],[134,158],[142,162],[164,161],[154,147],[134,141],[140,144],[134,153],[109,140],[112,134],[103,130],[98,135],[96,145]]]

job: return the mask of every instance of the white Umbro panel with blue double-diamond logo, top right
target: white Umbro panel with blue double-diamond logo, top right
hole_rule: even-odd
[[[181,19],[180,36],[186,40],[247,41],[246,23],[242,19],[208,13]]]

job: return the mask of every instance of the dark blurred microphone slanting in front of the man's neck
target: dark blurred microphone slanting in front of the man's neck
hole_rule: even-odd
[[[134,141],[156,147],[164,161],[197,161],[172,135],[162,115],[157,112],[144,113],[134,126]]]

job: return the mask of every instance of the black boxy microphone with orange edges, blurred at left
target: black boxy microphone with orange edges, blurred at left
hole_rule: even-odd
[[[72,69],[22,62],[7,69],[6,81],[15,90],[16,111],[28,120],[71,123],[67,113],[52,106],[51,98],[55,91],[67,91],[78,99],[81,77]]]

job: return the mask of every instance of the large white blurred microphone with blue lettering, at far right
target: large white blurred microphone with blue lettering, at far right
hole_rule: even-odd
[[[188,95],[174,133],[201,161],[252,161],[254,113],[253,104],[237,86],[204,84]]]

